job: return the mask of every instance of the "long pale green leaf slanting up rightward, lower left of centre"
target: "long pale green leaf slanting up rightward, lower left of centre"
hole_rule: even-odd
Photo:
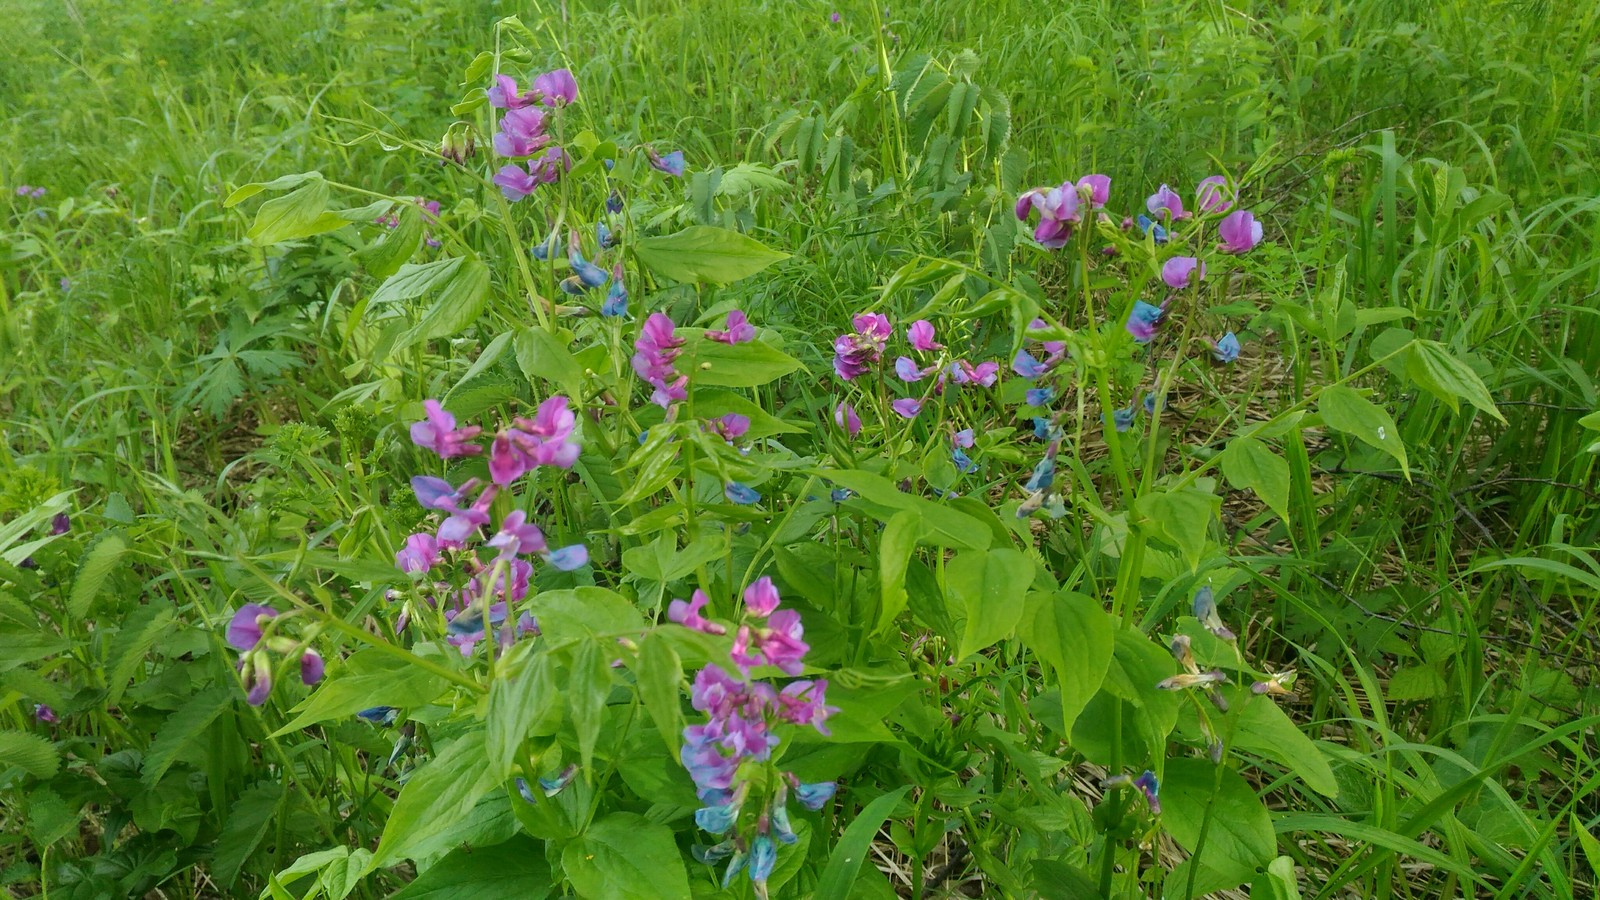
[[[467,732],[411,773],[389,814],[374,868],[426,847],[435,833],[470,815],[478,798],[499,783],[490,770],[483,741],[485,732]]]

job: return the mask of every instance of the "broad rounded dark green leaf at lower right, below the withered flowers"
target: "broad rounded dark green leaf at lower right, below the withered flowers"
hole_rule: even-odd
[[[1232,769],[1206,759],[1170,759],[1160,796],[1162,825],[1190,854],[1200,844],[1202,823],[1208,814],[1211,817],[1200,849],[1197,887],[1224,890],[1242,884],[1277,852],[1267,807]],[[1182,881],[1174,873],[1168,884],[1182,886]]]

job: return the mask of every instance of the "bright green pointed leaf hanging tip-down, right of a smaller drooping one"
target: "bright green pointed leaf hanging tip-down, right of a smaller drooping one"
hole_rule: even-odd
[[[1075,591],[1034,593],[1018,629],[1022,642],[1056,673],[1061,689],[1061,732],[1088,706],[1110,671],[1117,629],[1094,597]]]

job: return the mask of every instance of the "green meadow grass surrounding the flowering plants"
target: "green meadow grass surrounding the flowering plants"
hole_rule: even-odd
[[[1104,171],[1131,197],[1242,176],[1270,242],[1248,298],[1262,312],[1242,331],[1266,362],[1230,389],[1286,405],[1366,365],[1355,348],[1398,325],[1469,360],[1506,416],[1390,392],[1410,479],[1366,474],[1325,437],[1290,456],[1293,528],[1224,509],[1234,551],[1258,560],[1251,653],[1299,660],[1286,709],[1341,754],[1338,799],[1254,785],[1280,815],[1278,850],[1306,897],[1595,895],[1600,477],[1579,420],[1600,408],[1600,5],[11,0],[3,13],[0,520],[70,488],[85,527],[138,524],[141,577],[125,586],[174,621],[237,599],[232,554],[381,517],[365,471],[382,460],[334,439],[373,429],[339,412],[374,378],[341,327],[371,285],[338,239],[253,247],[224,199],[317,170],[456,207],[488,240],[470,210],[490,195],[386,135],[443,133],[499,16],[542,42],[533,67],[574,70],[574,115],[597,133],[682,147],[725,179],[773,167],[776,184],[747,192],[691,179],[683,208],[653,215],[736,223],[794,253],[718,299],[819,348],[915,256],[984,264],[987,226],[1021,189]],[[915,117],[891,88],[923,64],[1003,99],[1003,152],[973,154],[963,173],[981,203],[941,199],[949,186],[915,168]],[[48,194],[18,197],[19,184]],[[526,311],[506,299],[490,315]],[[405,394],[370,399],[430,396],[475,349],[394,360]],[[806,360],[818,372],[822,352]],[[1261,562],[1274,556],[1285,562]],[[85,687],[83,756],[149,753],[162,692],[206,687],[198,673],[158,684],[168,669],[141,663],[150,644],[133,631],[152,615],[101,644],[64,610],[43,615],[82,641],[90,669],[131,660],[126,697]],[[0,717],[26,729],[38,685],[11,671]],[[307,790],[270,850],[230,863],[230,889],[195,850],[222,809],[90,817],[43,841],[48,801],[5,790],[0,882],[35,895],[42,866],[110,860],[117,831],[101,830],[118,825],[141,836],[117,865],[149,866],[158,895],[253,895],[298,855],[285,828],[326,838],[299,850],[376,839],[390,799],[363,790],[357,754],[387,746],[347,740],[267,745],[304,783],[339,790]],[[243,733],[213,746],[192,761],[198,793],[254,785],[251,759]]]

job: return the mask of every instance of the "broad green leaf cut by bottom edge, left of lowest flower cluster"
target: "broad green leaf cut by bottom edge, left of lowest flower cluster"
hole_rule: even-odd
[[[690,900],[672,830],[632,812],[589,826],[562,850],[562,870],[587,900]]]

